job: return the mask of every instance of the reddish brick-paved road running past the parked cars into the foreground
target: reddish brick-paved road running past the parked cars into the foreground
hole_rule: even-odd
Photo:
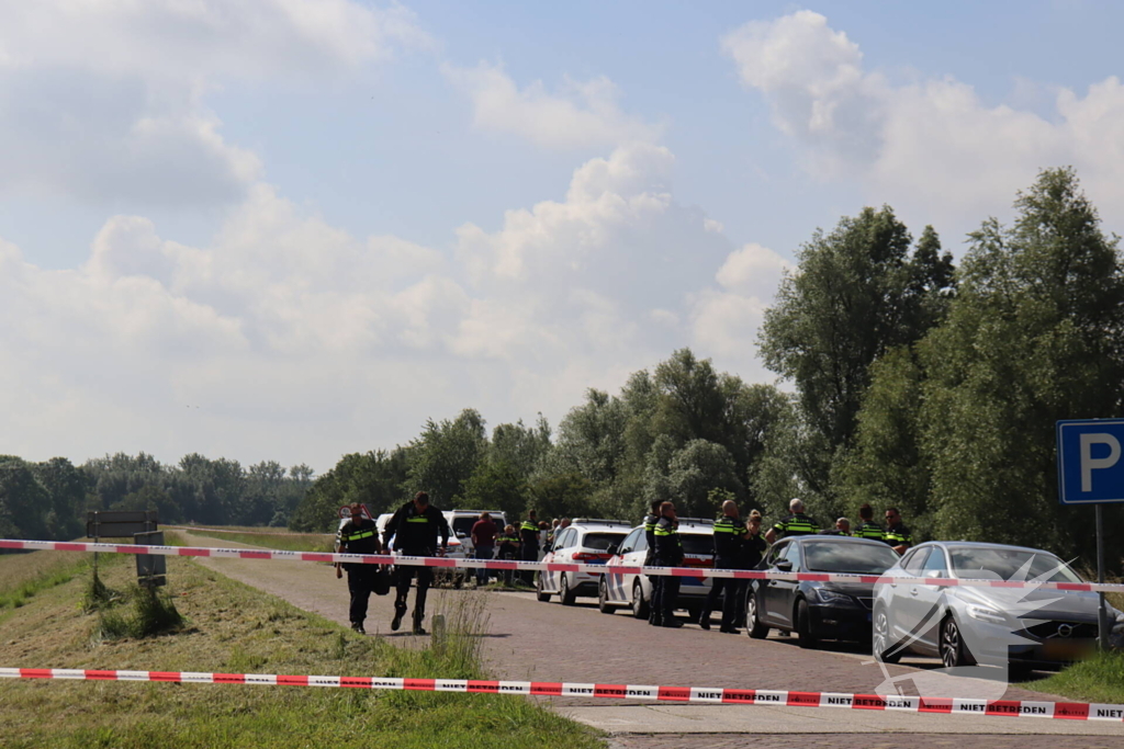
[[[196,546],[241,545],[192,536]],[[297,561],[199,558],[234,579],[282,597],[306,611],[347,623],[346,581],[333,568]],[[919,694],[912,679],[924,679],[935,660],[909,659],[883,673],[858,647],[832,646],[803,650],[794,638],[753,640],[743,634],[682,629],[655,629],[625,611],[607,615],[592,599],[563,606],[556,596],[540,603],[534,593],[435,590],[432,615],[456,606],[463,596],[486,596],[488,622],[482,650],[486,665],[498,678],[659,686],[735,687],[812,692],[874,693],[887,677],[895,677],[905,694]],[[370,636],[392,638],[397,645],[417,647],[425,638],[391,632],[393,593],[371,597],[366,621]],[[413,592],[411,592],[413,605]],[[428,627],[428,620],[427,620]],[[958,685],[971,691],[972,685]],[[995,685],[981,683],[980,694],[992,696]],[[939,696],[925,692],[926,696]],[[1007,689],[1007,700],[1062,700],[1021,688]],[[608,731],[616,747],[734,747],[788,746],[874,747],[914,749],[951,747],[966,736],[987,737],[989,749],[1086,749],[1124,747],[1118,723],[1044,719],[975,718],[862,710],[691,705],[649,701],[553,697],[544,698],[563,714]],[[996,737],[992,740],[990,737]],[[1078,738],[1081,737],[1081,738]]]

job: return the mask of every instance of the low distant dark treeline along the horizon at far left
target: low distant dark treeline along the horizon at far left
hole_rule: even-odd
[[[243,467],[198,454],[178,465],[119,453],[75,466],[0,456],[0,537],[69,539],[88,510],[156,510],[164,523],[279,526],[312,484],[312,469],[272,460]]]

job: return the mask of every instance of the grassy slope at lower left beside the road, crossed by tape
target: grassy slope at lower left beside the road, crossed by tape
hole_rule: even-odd
[[[44,554],[44,552],[38,552]],[[8,559],[0,558],[0,568]],[[446,612],[443,647],[408,650],[360,637],[196,565],[171,557],[166,593],[183,616],[174,633],[107,639],[81,603],[89,576],[44,587],[13,610],[0,636],[9,667],[264,674],[480,677],[473,637],[481,610]],[[26,563],[25,563],[26,564]],[[115,591],[132,565],[102,567]],[[475,623],[474,623],[475,622]],[[523,698],[488,694],[314,687],[0,682],[0,746],[599,747],[589,729]]]

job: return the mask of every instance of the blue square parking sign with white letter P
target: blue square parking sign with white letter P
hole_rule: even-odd
[[[1124,502],[1124,419],[1058,422],[1062,504]]]

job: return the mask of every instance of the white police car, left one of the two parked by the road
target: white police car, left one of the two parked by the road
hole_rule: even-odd
[[[543,563],[604,565],[628,535],[628,523],[623,520],[575,518],[559,533],[554,546],[543,557]],[[572,605],[579,595],[597,595],[600,575],[572,572],[538,573],[538,600],[546,602],[558,594],[563,605]]]

